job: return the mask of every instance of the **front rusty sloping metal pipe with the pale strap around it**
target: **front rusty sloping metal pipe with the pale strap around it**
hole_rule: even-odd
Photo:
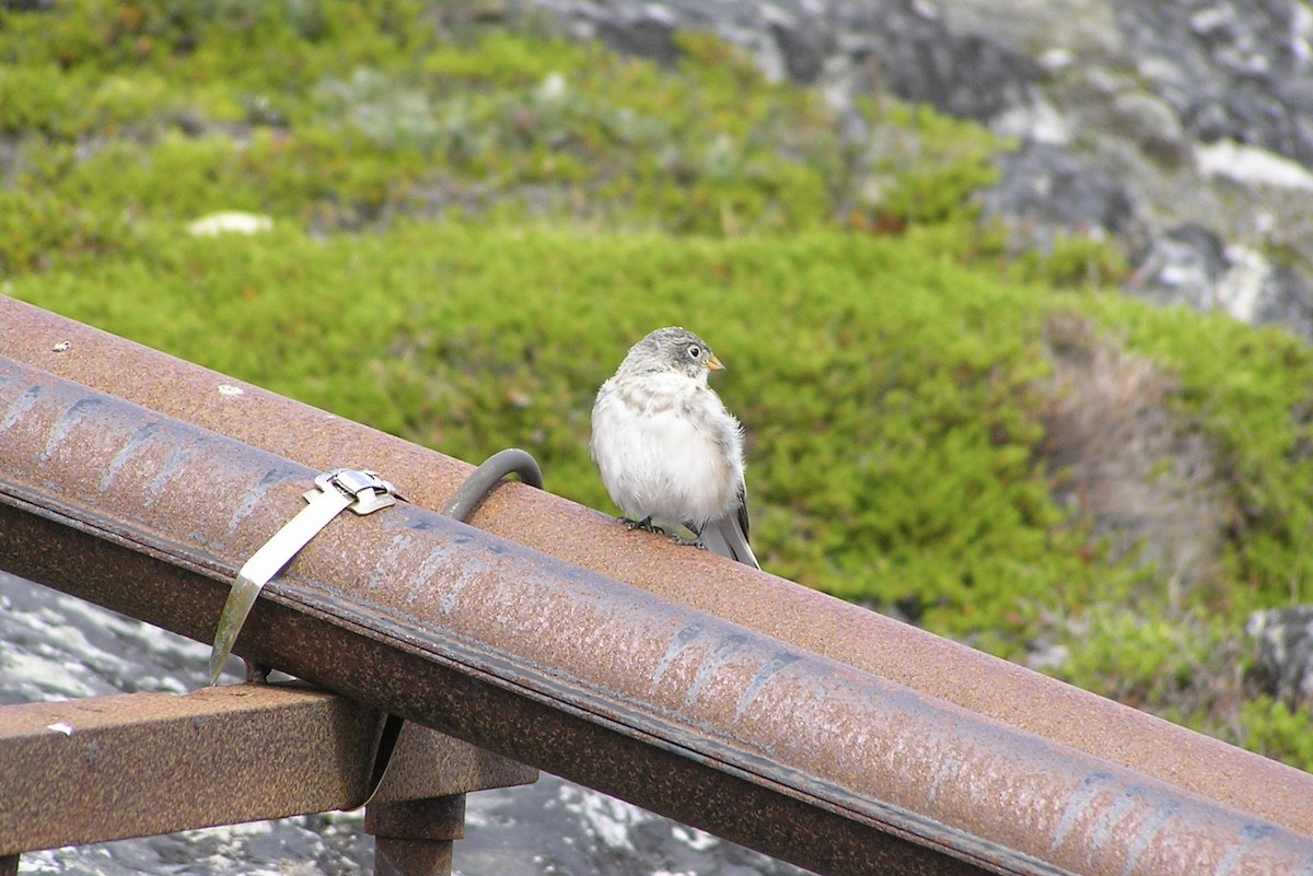
[[[0,564],[183,635],[314,473],[0,361]],[[1313,837],[414,506],[334,521],[238,652],[821,872],[1313,864]]]

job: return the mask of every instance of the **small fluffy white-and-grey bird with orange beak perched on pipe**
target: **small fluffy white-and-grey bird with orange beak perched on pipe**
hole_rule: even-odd
[[[743,426],[706,386],[723,368],[692,332],[656,329],[597,391],[588,450],[629,528],[683,525],[696,544],[762,568],[747,544]]]

